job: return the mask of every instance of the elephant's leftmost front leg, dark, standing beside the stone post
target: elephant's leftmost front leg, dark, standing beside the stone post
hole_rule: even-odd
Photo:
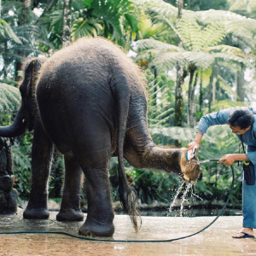
[[[32,144],[32,189],[24,218],[49,218],[47,183],[52,159],[53,143],[38,119],[35,120]]]

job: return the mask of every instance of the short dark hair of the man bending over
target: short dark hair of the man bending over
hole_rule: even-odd
[[[228,118],[228,122],[231,126],[239,126],[241,130],[247,129],[253,125],[254,115],[247,108],[236,108]]]

